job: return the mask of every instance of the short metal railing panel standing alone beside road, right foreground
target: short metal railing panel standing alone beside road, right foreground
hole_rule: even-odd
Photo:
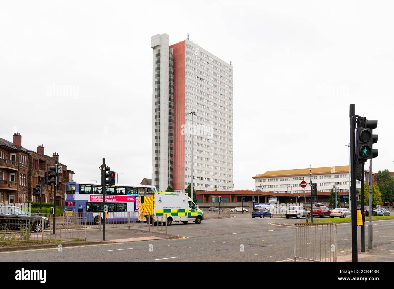
[[[294,224],[294,262],[336,262],[336,224]]]

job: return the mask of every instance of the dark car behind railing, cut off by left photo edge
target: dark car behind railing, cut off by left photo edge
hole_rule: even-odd
[[[48,228],[50,221],[48,218],[33,215],[15,206],[0,206],[0,229],[6,228],[19,230],[21,227],[32,226],[33,232],[41,232],[44,223],[44,229]]]

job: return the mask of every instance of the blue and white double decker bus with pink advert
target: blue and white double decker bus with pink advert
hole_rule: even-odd
[[[138,211],[138,193],[156,191],[154,186],[116,184],[106,186],[105,204],[108,218],[106,223],[127,221],[127,213]],[[66,184],[65,206],[67,212],[80,213],[87,222],[99,224],[101,222],[102,186],[96,182],[71,181]],[[134,214],[133,214],[134,216]]]

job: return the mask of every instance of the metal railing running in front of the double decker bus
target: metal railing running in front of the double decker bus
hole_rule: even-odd
[[[65,212],[64,219],[76,220],[85,218],[88,229],[102,230],[103,212]],[[57,224],[56,224],[57,226]],[[105,228],[137,228],[141,230],[159,231],[167,234],[167,214],[143,215],[139,211],[135,212],[107,212]]]

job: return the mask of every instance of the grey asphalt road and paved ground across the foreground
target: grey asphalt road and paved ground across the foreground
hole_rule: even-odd
[[[195,223],[173,223],[167,228],[167,239],[125,239],[146,237],[140,235],[114,237],[117,242],[78,245],[40,250],[0,252],[6,261],[294,261],[294,223],[305,219],[255,218],[250,214],[236,214],[226,219],[204,219]],[[359,253],[359,261],[394,261],[394,220],[374,221],[374,249]],[[128,229],[119,229],[127,231]],[[110,232],[111,230],[107,230]],[[92,232],[93,233],[93,232]],[[91,233],[89,233],[91,234]],[[98,239],[102,232],[94,232]],[[118,232],[117,234],[122,234]],[[338,261],[351,261],[350,224],[337,225]],[[150,233],[160,237],[161,234]],[[360,228],[358,228],[360,236]],[[368,228],[366,227],[366,236]],[[122,240],[123,239],[123,240]],[[359,240],[359,247],[361,241]],[[368,245],[368,242],[366,243]],[[364,256],[365,255],[365,256]]]

